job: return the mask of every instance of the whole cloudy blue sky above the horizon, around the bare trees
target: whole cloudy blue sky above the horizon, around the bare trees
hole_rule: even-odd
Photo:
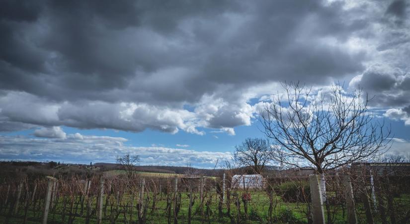
[[[373,96],[410,150],[405,0],[1,0],[0,159],[212,168],[300,82]]]

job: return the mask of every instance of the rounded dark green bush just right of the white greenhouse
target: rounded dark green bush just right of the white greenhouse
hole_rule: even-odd
[[[307,203],[310,201],[310,186],[307,181],[288,181],[275,186],[273,189],[286,202]]]

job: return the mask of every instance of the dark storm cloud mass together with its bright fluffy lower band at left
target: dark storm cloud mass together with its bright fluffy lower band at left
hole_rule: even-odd
[[[405,20],[403,3],[362,4],[6,1],[0,115],[47,128],[203,134],[196,127],[211,127],[234,134],[233,127],[250,125],[249,98],[275,91],[249,88],[282,80],[328,85],[360,74],[373,56],[351,47],[354,38],[370,38],[385,51],[407,43],[406,32],[386,37],[391,43],[372,35],[375,17]],[[369,80],[376,89],[389,81]]]

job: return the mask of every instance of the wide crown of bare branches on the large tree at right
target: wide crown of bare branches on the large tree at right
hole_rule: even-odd
[[[347,93],[335,84],[313,94],[299,83],[282,86],[284,94],[274,96],[260,112],[277,162],[324,173],[367,161],[389,148],[390,128],[373,119],[370,99],[361,89]]]

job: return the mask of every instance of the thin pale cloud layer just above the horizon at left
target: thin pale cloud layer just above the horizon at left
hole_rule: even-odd
[[[141,157],[141,165],[168,165],[214,168],[231,159],[230,152],[208,152],[166,147],[133,147],[127,139],[110,136],[68,134],[66,138],[0,136],[2,160],[54,160],[88,164],[115,162],[116,156],[130,153]]]

